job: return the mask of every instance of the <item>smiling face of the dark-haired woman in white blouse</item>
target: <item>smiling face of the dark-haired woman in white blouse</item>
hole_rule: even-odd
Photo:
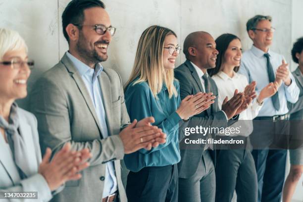
[[[234,39],[228,45],[224,54],[223,65],[238,67],[242,57],[242,45],[239,39]]]

